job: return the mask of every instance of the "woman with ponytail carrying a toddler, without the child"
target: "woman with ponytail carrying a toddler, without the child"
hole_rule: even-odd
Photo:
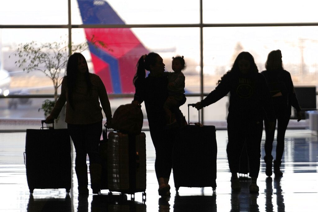
[[[138,60],[133,81],[136,89],[133,103],[145,102],[150,136],[156,151],[155,171],[159,184],[158,193],[162,196],[170,195],[171,155],[176,135],[176,128],[165,129],[163,104],[168,97],[169,81],[164,66],[162,58],[157,53],[145,54]],[[150,72],[146,78],[145,70]],[[182,114],[179,109],[177,113]]]

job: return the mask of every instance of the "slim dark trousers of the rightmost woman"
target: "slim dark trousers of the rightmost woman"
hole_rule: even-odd
[[[285,146],[285,133],[287,129],[287,125],[289,122],[290,116],[280,116],[277,117],[277,120],[274,120],[274,124],[276,126],[277,121],[277,145],[276,145],[276,161],[281,161],[284,153],[284,146]],[[266,134],[266,140],[265,140],[265,155],[266,157],[272,156],[272,149],[273,149],[273,141],[274,141],[274,134],[275,131],[269,132],[268,130],[268,120],[264,119],[264,125],[265,125],[265,134]]]

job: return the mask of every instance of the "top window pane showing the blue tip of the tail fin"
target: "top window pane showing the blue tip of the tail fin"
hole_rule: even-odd
[[[198,24],[199,8],[198,0],[72,0],[72,24]]]

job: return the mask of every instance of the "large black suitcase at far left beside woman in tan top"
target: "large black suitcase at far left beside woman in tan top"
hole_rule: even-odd
[[[71,141],[67,129],[27,129],[25,138],[26,178],[35,188],[71,189]]]

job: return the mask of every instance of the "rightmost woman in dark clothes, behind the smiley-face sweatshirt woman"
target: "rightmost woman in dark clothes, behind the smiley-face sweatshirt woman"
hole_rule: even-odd
[[[300,106],[295,95],[294,85],[290,73],[283,69],[282,55],[280,50],[271,51],[268,54],[265,64],[266,71],[261,72],[267,81],[273,99],[275,119],[277,121],[277,145],[276,160],[274,160],[274,174],[280,177],[283,173],[280,171],[281,159],[284,153],[284,139],[287,125],[290,119],[291,106],[296,108],[298,121],[301,120]],[[275,131],[269,131],[268,119],[264,118],[265,125],[265,156],[266,175],[272,175],[272,148]]]

